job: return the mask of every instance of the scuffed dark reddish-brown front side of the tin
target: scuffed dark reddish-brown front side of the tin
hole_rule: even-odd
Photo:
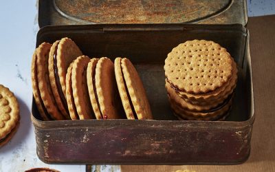
[[[90,124],[35,127],[39,158],[89,164],[236,164],[250,152],[250,127],[232,129],[211,122],[179,121]]]

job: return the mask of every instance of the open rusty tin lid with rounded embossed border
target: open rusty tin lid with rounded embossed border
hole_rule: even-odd
[[[39,0],[39,27],[97,23],[246,25],[246,0]]]

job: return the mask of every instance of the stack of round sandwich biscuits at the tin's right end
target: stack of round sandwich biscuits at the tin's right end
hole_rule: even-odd
[[[237,68],[224,47],[213,41],[186,41],[168,54],[164,70],[170,107],[179,120],[225,120]]]

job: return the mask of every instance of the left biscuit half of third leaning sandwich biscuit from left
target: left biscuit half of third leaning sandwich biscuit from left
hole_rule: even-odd
[[[73,95],[73,89],[72,89],[72,68],[73,68],[73,62],[69,65],[67,69],[66,74],[66,100],[67,100],[67,106],[69,110],[69,116],[72,120],[79,120],[77,111],[76,111],[76,105],[74,104],[74,95]]]

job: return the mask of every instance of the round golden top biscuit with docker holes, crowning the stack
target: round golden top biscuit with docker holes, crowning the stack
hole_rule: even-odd
[[[186,41],[173,48],[165,60],[169,83],[188,93],[211,92],[232,76],[230,54],[213,41]]]

